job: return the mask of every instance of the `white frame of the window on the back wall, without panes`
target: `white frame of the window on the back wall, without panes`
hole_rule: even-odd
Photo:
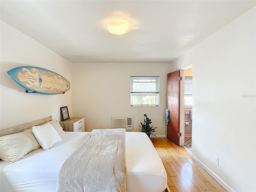
[[[151,91],[146,91],[146,90],[136,90],[134,91],[134,80],[143,80],[145,79],[146,81],[142,81],[142,83],[156,83],[156,90],[151,90]],[[150,81],[152,80],[152,81]],[[138,83],[138,82],[136,82]],[[155,104],[134,104],[134,96],[155,96]],[[130,106],[154,106],[158,107],[159,106],[159,98],[160,98],[160,78],[159,76],[131,76],[130,77]]]

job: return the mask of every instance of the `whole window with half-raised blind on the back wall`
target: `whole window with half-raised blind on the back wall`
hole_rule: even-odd
[[[159,76],[131,76],[131,106],[159,106]]]

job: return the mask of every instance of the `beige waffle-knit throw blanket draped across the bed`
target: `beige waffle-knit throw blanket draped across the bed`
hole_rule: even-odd
[[[125,129],[92,130],[62,164],[57,192],[126,192]]]

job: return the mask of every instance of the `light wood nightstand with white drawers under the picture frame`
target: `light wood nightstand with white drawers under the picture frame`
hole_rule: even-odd
[[[61,121],[64,131],[84,132],[84,117],[70,117],[66,121]]]

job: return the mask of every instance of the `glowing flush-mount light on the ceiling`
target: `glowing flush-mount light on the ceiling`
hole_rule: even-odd
[[[122,35],[128,31],[129,24],[125,20],[121,19],[111,20],[106,24],[106,29],[111,34]]]

